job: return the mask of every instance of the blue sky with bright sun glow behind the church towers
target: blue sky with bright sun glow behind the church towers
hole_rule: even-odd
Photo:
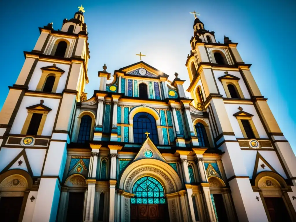
[[[15,83],[24,62],[23,51],[31,51],[39,36],[38,27],[53,22],[60,29],[77,6],[85,7],[91,59],[86,86],[88,98],[99,88],[97,73],[104,63],[107,71],[143,61],[171,75],[189,78],[185,67],[193,35],[193,15],[207,30],[215,31],[217,41],[224,35],[238,42],[251,72],[279,126],[296,151],[295,115],[295,9],[296,1],[14,1],[1,2],[0,36],[2,67],[0,107]]]

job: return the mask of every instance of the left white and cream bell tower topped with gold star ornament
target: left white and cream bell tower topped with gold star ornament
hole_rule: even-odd
[[[88,83],[83,13],[81,5],[73,18],[64,19],[61,30],[52,23],[39,28],[36,45],[24,52],[24,65],[0,112],[0,177],[19,170],[16,174],[36,186],[25,194],[36,200],[34,207],[22,207],[24,221],[56,220],[75,108]]]

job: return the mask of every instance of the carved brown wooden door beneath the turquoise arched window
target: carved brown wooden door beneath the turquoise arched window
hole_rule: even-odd
[[[169,221],[166,204],[131,204],[131,222]]]

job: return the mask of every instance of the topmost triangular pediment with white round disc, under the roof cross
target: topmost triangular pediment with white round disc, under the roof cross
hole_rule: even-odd
[[[125,75],[137,75],[142,77],[168,77],[165,73],[147,64],[146,62],[140,61],[132,65],[119,69],[120,72],[124,72]]]

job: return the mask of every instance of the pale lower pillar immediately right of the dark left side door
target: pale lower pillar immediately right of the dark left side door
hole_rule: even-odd
[[[86,184],[88,185],[88,189],[84,222],[92,222],[94,217],[94,196],[96,193],[96,180],[86,180]]]

